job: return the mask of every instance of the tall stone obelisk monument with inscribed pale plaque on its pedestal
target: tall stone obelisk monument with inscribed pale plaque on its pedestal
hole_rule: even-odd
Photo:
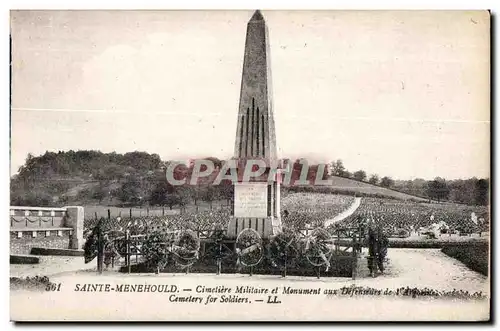
[[[269,34],[258,10],[247,25],[234,157],[241,165],[239,174],[248,160],[263,161],[266,171],[258,179],[234,184],[228,236],[237,237],[246,228],[254,229],[263,238],[277,234],[281,231],[280,183],[276,176],[268,176],[278,161]]]

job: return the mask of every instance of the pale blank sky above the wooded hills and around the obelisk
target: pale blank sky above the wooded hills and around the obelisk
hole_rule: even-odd
[[[484,11],[262,11],[279,157],[489,177]],[[12,11],[11,174],[28,153],[233,155],[252,11]]]

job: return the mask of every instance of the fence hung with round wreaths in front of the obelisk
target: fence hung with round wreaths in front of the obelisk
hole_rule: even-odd
[[[150,265],[156,272],[168,265],[189,272],[196,262],[203,261],[204,265],[215,266],[217,274],[222,273],[223,265],[233,263],[234,267],[248,270],[250,274],[254,270],[277,268],[285,277],[287,270],[302,268],[315,270],[319,277],[322,268],[328,272],[332,267],[332,258],[342,256],[353,263],[352,277],[355,278],[364,238],[362,227],[331,232],[324,228],[285,229],[266,240],[255,230],[245,228],[234,240],[226,236],[223,226],[176,228],[165,225],[151,231],[152,225],[146,224],[143,232],[137,233],[130,228],[109,230],[108,221],[101,218],[87,239],[97,241],[100,273],[105,264],[114,267],[123,259],[129,273],[134,264],[141,263]]]

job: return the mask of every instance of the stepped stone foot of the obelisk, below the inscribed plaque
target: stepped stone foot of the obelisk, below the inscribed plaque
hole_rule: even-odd
[[[262,238],[269,238],[281,232],[281,219],[278,217],[231,217],[227,237],[236,239],[244,229],[255,230]]]

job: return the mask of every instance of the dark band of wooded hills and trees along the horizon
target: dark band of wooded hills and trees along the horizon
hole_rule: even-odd
[[[163,161],[157,154],[130,152],[125,154],[100,151],[46,152],[40,156],[28,155],[26,162],[12,176],[10,183],[11,205],[57,206],[70,203],[121,206],[186,206],[200,201],[230,202],[233,186],[227,180],[213,185],[225,160],[208,157],[216,171],[198,180],[196,185],[172,186],[166,181],[165,169],[172,161]],[[189,179],[194,160],[175,168],[176,179]],[[297,186],[306,159],[283,159],[292,171],[290,186]],[[202,171],[204,169],[201,169]],[[450,200],[465,204],[488,204],[489,180],[432,181],[414,179],[393,180],[391,177],[368,175],[364,170],[350,172],[342,160],[329,164],[308,163],[306,179],[313,183],[316,178],[332,176],[349,178],[378,185],[403,193],[434,200]],[[286,189],[286,187],[285,187]],[[302,188],[298,188],[299,190]],[[296,189],[295,189],[296,190]]]

